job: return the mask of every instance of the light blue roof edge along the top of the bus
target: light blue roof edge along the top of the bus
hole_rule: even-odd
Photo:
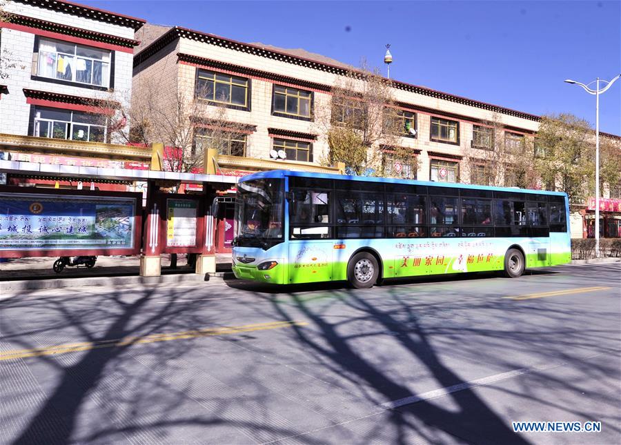
[[[373,177],[373,176],[335,175],[333,173],[297,172],[297,171],[292,171],[292,170],[268,170],[266,172],[257,172],[257,173],[253,173],[252,175],[246,175],[244,177],[239,178],[239,182],[252,181],[253,179],[284,178],[286,176],[322,178],[322,179],[340,179],[340,180],[346,180],[346,181],[381,182],[385,184],[411,184],[411,185],[416,185],[416,186],[470,188],[470,189],[476,189],[476,190],[499,190],[499,191],[502,190],[505,192],[527,192],[527,193],[537,193],[540,195],[566,196],[565,192],[549,192],[547,190],[531,190],[529,188],[476,186],[472,184],[459,184],[455,182],[414,181],[411,179],[382,178],[382,177]]]

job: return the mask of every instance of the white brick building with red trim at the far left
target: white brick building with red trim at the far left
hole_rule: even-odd
[[[0,81],[0,133],[119,142],[92,112],[131,100],[134,33],[144,20],[68,1],[13,0],[5,11],[0,51],[11,66]]]

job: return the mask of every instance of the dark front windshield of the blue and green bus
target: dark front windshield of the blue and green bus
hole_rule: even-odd
[[[269,248],[284,241],[283,185],[275,178],[237,184],[235,246]]]

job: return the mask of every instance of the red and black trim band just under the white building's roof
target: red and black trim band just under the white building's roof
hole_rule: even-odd
[[[134,47],[139,45],[139,41],[134,39],[124,39],[110,34],[103,34],[72,26],[62,25],[60,23],[52,23],[39,19],[32,19],[13,14],[10,21],[0,22],[2,28],[11,30],[29,32],[50,39],[59,39],[62,41],[70,41],[71,43],[79,43],[81,45],[94,46],[95,48],[103,48],[112,51],[134,52]]]

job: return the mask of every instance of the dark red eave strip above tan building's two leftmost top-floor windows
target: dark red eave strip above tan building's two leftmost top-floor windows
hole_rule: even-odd
[[[331,87],[324,85],[323,83],[311,82],[302,79],[296,79],[295,77],[289,77],[279,75],[274,72],[268,72],[263,70],[257,70],[256,68],[248,68],[245,66],[234,65],[233,63],[226,63],[213,59],[206,59],[205,57],[198,57],[182,52],[177,53],[177,59],[179,63],[185,63],[186,65],[197,66],[199,68],[213,68],[215,70],[226,72],[233,75],[245,75],[253,79],[264,79],[284,85],[292,85],[297,87],[306,88],[307,90],[314,91],[331,91]]]

